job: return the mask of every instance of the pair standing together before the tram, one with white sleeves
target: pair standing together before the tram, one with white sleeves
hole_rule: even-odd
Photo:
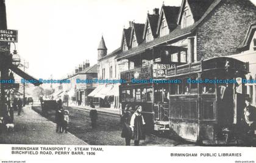
[[[127,104],[124,109],[124,114],[121,117],[121,123],[123,124],[123,130],[121,137],[125,138],[126,145],[130,145],[130,140],[134,140],[134,145],[138,146],[140,140],[146,138],[144,133],[144,125],[146,124],[144,118],[141,114],[142,107],[140,105],[135,106],[135,112],[133,111],[132,106]]]

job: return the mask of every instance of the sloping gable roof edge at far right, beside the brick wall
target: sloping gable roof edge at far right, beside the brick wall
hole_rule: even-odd
[[[254,36],[255,30],[256,30],[256,21],[249,26],[249,28],[246,32],[246,36],[244,37],[244,40],[237,47],[238,51],[241,52],[241,51],[250,49],[250,44],[252,41],[252,37]]]

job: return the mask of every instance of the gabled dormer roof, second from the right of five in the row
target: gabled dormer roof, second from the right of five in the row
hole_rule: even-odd
[[[169,30],[174,29],[177,26],[177,16],[179,15],[179,10],[180,7],[163,5],[160,12],[160,17],[158,19],[157,32],[160,30],[163,15],[165,16]]]

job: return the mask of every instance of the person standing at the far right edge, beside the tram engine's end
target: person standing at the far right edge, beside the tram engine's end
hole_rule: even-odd
[[[246,107],[244,108],[244,120],[249,127],[248,134],[254,134],[255,121],[256,121],[256,108],[251,105],[251,98],[246,97]]]

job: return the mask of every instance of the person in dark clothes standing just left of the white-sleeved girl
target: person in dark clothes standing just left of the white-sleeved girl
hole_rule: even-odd
[[[124,114],[121,116],[121,123],[123,125],[123,130],[121,133],[121,137],[126,139],[126,145],[130,145],[130,139],[132,139],[132,129],[129,126],[130,119],[132,117],[132,106],[126,104],[126,108],[124,108]]]

